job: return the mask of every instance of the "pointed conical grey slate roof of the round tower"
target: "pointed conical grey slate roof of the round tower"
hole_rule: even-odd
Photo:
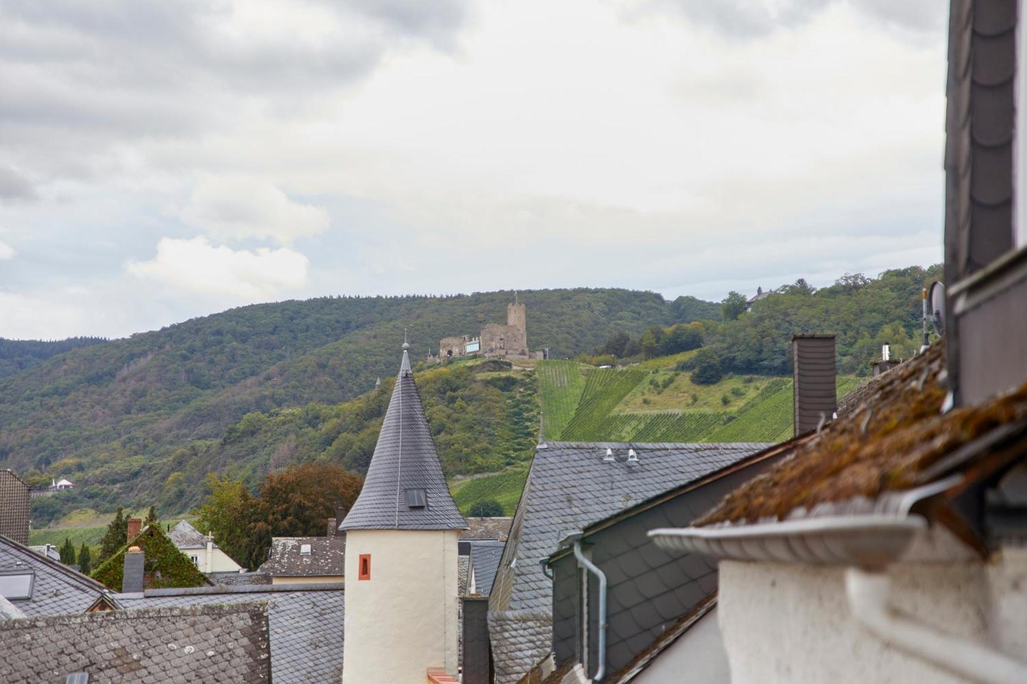
[[[340,529],[464,530],[467,523],[453,502],[421,396],[404,345],[392,390],[364,489]],[[427,505],[407,505],[408,490],[424,490]]]

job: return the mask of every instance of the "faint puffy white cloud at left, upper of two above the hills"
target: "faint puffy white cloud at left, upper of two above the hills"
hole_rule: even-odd
[[[267,181],[240,177],[200,181],[181,217],[215,237],[271,239],[279,244],[316,235],[329,224],[325,210],[293,201]]]

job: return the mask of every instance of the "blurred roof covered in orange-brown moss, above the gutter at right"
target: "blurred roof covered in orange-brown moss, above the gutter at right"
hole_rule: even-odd
[[[980,465],[999,453],[1003,458],[1023,453],[1027,384],[942,413],[946,393],[944,345],[936,344],[875,379],[858,406],[728,494],[694,525],[783,520],[823,504],[873,500]],[[990,471],[979,467],[975,476]]]

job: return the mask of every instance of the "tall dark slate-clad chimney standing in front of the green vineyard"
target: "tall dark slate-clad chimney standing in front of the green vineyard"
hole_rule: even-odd
[[[835,336],[793,335],[795,434],[831,420],[837,408]]]

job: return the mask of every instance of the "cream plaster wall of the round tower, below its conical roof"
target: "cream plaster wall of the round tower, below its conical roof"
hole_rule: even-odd
[[[457,672],[460,530],[346,533],[343,684],[423,684],[428,668]],[[371,579],[359,577],[371,555]]]

